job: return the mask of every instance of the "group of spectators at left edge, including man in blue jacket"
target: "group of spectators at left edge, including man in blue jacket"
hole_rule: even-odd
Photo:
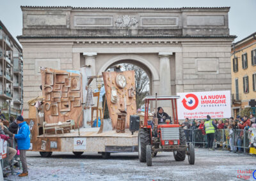
[[[8,142],[8,164],[11,166],[20,161],[22,164],[22,173],[19,174],[19,177],[27,176],[26,150],[30,147],[30,131],[23,117],[19,115],[15,119],[11,116],[8,120],[0,109],[0,138]],[[15,157],[16,155],[17,157]],[[14,157],[15,159],[13,159]],[[4,177],[6,177],[6,174],[4,174]]]

